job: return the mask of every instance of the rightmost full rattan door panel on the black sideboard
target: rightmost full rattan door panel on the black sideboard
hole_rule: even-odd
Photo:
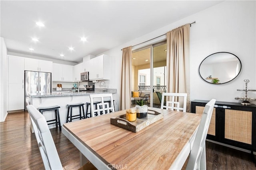
[[[252,145],[252,112],[225,109],[224,138]]]

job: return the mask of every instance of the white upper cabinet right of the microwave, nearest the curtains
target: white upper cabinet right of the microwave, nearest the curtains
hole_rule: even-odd
[[[91,65],[89,80],[109,80],[111,66],[107,55],[100,55],[91,59]]]

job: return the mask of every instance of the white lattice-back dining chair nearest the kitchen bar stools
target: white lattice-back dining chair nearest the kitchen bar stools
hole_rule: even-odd
[[[100,114],[106,114],[110,112],[115,112],[114,102],[112,94],[90,94],[90,102],[91,106],[94,106],[94,101],[99,103],[96,104],[95,107],[91,107],[91,116],[94,117]]]

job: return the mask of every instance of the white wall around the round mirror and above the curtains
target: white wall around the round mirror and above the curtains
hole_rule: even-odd
[[[255,6],[255,1],[224,1],[104,52],[110,56],[113,64],[110,67],[110,86],[118,89],[120,99],[122,48],[142,43],[180,25],[196,21],[190,28],[190,100],[215,98],[222,102],[240,102],[234,98],[241,94],[237,89],[245,87],[244,79],[250,80],[248,89],[256,89]],[[242,62],[242,70],[231,82],[207,83],[200,78],[198,67],[205,57],[221,51],[236,55]]]

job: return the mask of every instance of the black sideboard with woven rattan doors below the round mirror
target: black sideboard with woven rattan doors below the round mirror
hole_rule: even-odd
[[[207,102],[209,101],[192,101],[191,112],[202,114]],[[216,102],[207,139],[255,152],[256,105]]]

